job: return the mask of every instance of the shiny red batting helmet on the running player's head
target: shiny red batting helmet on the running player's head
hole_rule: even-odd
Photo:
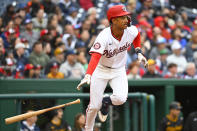
[[[109,10],[107,11],[107,19],[110,22],[112,18],[129,14],[131,13],[126,10],[126,7],[124,5],[115,5],[109,8]]]

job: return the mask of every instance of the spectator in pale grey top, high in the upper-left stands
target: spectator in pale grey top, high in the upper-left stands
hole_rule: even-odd
[[[44,9],[39,9],[36,17],[32,19],[33,28],[38,32],[47,27],[47,18],[44,17],[44,13]]]

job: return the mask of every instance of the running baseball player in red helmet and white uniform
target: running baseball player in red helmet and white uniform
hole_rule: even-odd
[[[91,59],[85,77],[77,89],[90,84],[90,103],[86,110],[85,131],[93,131],[98,112],[99,119],[107,119],[109,105],[121,105],[126,102],[128,81],[126,75],[127,49],[133,43],[139,62],[147,65],[146,58],[140,49],[140,33],[135,26],[130,26],[130,13],[125,6],[115,5],[107,11],[110,27],[102,30],[89,53]],[[113,94],[104,96],[103,93],[109,82]]]

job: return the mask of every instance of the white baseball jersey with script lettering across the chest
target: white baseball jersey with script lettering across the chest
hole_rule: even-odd
[[[138,29],[135,26],[127,27],[124,30],[121,40],[117,40],[112,35],[110,27],[102,30],[97,36],[90,53],[100,53],[101,59],[99,65],[120,68],[125,66],[127,61],[127,49],[131,46],[133,40],[138,35]]]

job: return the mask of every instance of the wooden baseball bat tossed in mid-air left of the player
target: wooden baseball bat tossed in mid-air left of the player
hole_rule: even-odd
[[[80,103],[80,99],[77,99],[75,101],[65,103],[65,104],[62,104],[62,105],[58,105],[58,106],[54,106],[54,107],[50,107],[50,108],[46,108],[46,109],[42,109],[42,110],[38,110],[38,111],[28,112],[28,113],[24,113],[24,114],[13,116],[13,117],[9,117],[9,118],[5,119],[5,123],[6,124],[12,124],[14,122],[18,122],[18,121],[27,119],[27,118],[32,117],[32,116],[38,116],[38,115],[43,114],[43,113],[48,112],[48,111],[52,111],[52,110],[55,110],[55,109],[63,108],[65,106],[78,104],[78,103]]]

